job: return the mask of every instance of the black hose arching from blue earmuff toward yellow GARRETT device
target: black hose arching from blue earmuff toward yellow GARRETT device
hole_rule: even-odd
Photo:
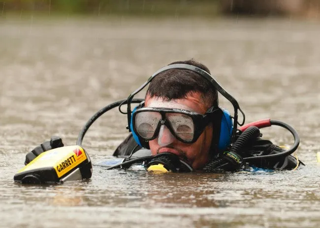
[[[88,131],[88,129],[90,128],[90,126],[96,121],[97,118],[99,118],[102,114],[108,112],[109,110],[118,107],[120,104],[126,104],[127,99],[124,100],[120,100],[120,101],[116,101],[111,103],[110,105],[107,105],[106,107],[100,109],[98,112],[96,112],[96,114],[94,114],[88,121],[87,123],[83,126],[82,130],[80,131],[79,135],[78,135],[78,139],[76,144],[80,145],[82,144],[83,138],[85,137],[86,132]],[[131,103],[141,103],[142,101],[144,101],[144,99],[132,99]]]

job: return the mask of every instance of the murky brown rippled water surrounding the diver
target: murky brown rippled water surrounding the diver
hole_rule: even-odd
[[[320,24],[290,20],[0,20],[1,227],[319,227]],[[104,171],[87,182],[21,186],[35,145],[65,144],[97,110],[126,98],[171,61],[205,63],[247,122],[271,117],[300,133],[298,171],[167,174]],[[222,102],[227,106],[226,102]],[[125,138],[117,110],[88,131],[94,163]],[[277,127],[262,130],[292,143]]]

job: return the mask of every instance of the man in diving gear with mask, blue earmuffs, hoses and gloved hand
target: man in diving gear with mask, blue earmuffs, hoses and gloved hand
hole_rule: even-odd
[[[134,95],[149,85],[145,99]],[[234,108],[231,115],[219,107],[218,92]],[[131,105],[138,105],[131,110]],[[127,104],[127,112],[121,107]],[[234,99],[210,75],[209,69],[193,59],[176,61],[154,73],[132,92],[128,99],[115,102],[97,112],[80,132],[81,145],[91,124],[106,111],[118,107],[128,118],[128,137],[115,150],[124,158],[108,169],[128,169],[140,163],[148,171],[240,171],[245,168],[293,170],[301,161],[291,154],[299,136],[290,125],[264,119],[244,125],[245,114]],[[242,121],[238,121],[238,111]],[[262,139],[260,128],[278,125],[294,137],[285,149]],[[241,127],[238,127],[241,126]],[[26,156],[25,165],[44,151],[64,146],[58,137],[37,146]]]

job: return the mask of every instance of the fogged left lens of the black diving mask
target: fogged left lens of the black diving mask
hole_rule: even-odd
[[[137,134],[145,140],[150,140],[155,134],[161,114],[156,112],[141,112],[135,115]]]

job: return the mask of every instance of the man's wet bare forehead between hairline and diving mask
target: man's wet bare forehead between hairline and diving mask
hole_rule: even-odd
[[[206,106],[203,104],[200,94],[194,93],[186,98],[173,99],[167,101],[161,97],[146,97],[145,107],[150,108],[169,108],[188,110],[199,114],[206,112]]]

